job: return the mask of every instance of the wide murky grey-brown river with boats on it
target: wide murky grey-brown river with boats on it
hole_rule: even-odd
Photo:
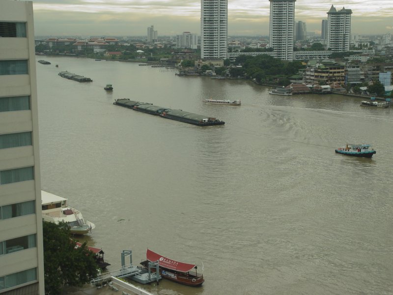
[[[393,294],[393,111],[138,63],[44,59],[52,64],[36,65],[42,189],[96,225],[81,240],[104,250],[109,270],[123,249],[138,264],[149,248],[198,271],[203,264],[202,287],[143,286],[157,295]],[[64,70],[93,82],[57,75]],[[117,98],[225,125],[155,117],[113,105]],[[336,154],[346,143],[377,153]]]

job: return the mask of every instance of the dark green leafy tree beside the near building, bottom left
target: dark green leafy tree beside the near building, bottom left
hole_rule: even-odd
[[[63,286],[83,286],[97,276],[94,254],[86,243],[75,248],[66,223],[44,221],[45,293],[60,294]]]

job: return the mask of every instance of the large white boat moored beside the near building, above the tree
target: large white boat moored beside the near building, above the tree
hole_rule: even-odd
[[[67,204],[67,199],[46,191],[41,191],[42,218],[45,221],[58,224],[67,223],[73,235],[85,235],[95,228],[95,225],[84,220],[82,213]]]

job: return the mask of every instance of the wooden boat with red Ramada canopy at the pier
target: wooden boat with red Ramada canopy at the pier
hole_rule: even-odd
[[[197,265],[175,261],[157,254],[149,249],[146,251],[146,259],[140,264],[147,268],[149,262],[158,262],[160,274],[163,278],[187,286],[199,287],[205,281],[203,274],[197,274]],[[191,271],[195,268],[195,271]]]

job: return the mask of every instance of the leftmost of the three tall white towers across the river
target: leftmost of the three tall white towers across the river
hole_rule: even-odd
[[[200,57],[226,59],[228,0],[201,0],[200,14]]]

